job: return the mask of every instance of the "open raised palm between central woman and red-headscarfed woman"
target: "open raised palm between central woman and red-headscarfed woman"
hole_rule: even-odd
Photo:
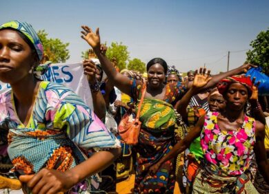
[[[206,68],[200,68],[199,73],[198,70],[195,71],[195,79],[193,80],[192,87],[201,88],[205,86],[211,79],[212,77],[210,77],[210,70],[206,72]]]

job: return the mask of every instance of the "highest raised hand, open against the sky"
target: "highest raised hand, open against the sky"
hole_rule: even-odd
[[[100,36],[99,36],[99,28],[97,28],[96,32],[92,32],[87,25],[82,25],[81,28],[84,31],[81,31],[81,38],[87,41],[87,43],[95,50],[100,50]]]

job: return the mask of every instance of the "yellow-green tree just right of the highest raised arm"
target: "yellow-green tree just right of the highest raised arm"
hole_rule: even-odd
[[[128,47],[122,43],[112,42],[111,46],[108,47],[106,51],[106,56],[108,56],[110,61],[116,63],[115,65],[117,65],[120,70],[126,69],[126,63],[130,58],[130,53],[127,49]]]

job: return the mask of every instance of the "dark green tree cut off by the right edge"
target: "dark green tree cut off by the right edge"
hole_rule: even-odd
[[[269,75],[269,29],[261,31],[254,41],[250,42],[252,50],[247,54],[248,63],[258,65],[263,68],[263,73]]]

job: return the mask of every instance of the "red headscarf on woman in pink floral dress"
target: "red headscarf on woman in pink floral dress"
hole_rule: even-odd
[[[249,76],[231,76],[221,80],[217,85],[219,93],[223,95],[232,83],[241,83],[241,85],[245,86],[248,89],[248,98],[250,98],[252,95],[252,81]]]

